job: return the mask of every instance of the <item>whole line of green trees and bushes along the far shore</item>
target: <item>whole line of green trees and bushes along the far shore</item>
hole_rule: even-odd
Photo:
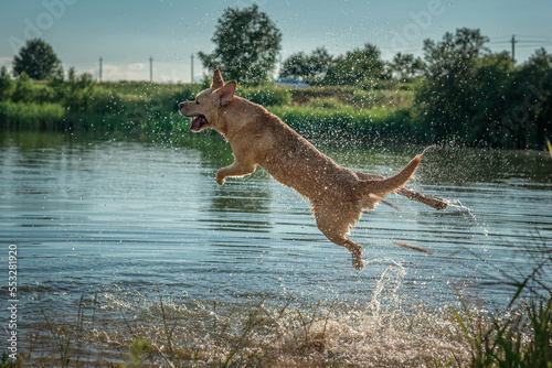
[[[227,8],[212,41],[215,50],[198,55],[205,68],[219,67],[229,79],[244,86],[269,83],[282,32],[257,6]],[[279,76],[314,86],[357,86],[365,90],[383,82],[406,83],[415,96],[408,116],[429,142],[543,147],[552,130],[552,55],[544,48],[537,50],[527,62],[514,65],[508,53],[492,53],[486,46],[488,42],[479,30],[458,29],[445,33],[440,41],[425,40],[423,57],[399,53],[389,62],[371,43],[337,56],[318,47],[309,54],[290,55],[283,62]],[[72,73],[70,83],[75,84],[77,77]],[[64,78],[57,56],[42,40],[28,41],[13,59],[13,74],[23,82],[59,80],[59,86]],[[89,75],[81,78],[82,84],[91,82]],[[24,99],[25,83],[12,94],[9,79],[3,68],[0,98]]]

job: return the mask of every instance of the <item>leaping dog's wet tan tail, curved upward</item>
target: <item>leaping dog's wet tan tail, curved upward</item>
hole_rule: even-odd
[[[390,176],[388,178],[381,180],[363,180],[361,182],[361,196],[370,197],[372,203],[369,203],[368,207],[373,209],[378,202],[383,199],[385,196],[399,191],[408,180],[412,177],[414,172],[422,160],[422,154],[418,154],[400,173]]]

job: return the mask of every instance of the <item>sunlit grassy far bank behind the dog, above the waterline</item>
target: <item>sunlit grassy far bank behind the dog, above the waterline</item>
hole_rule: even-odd
[[[180,133],[189,121],[177,112],[178,102],[193,99],[204,86],[149,83],[35,83],[12,88],[0,101],[3,130]],[[408,137],[423,141],[408,112],[412,86],[386,84],[386,89],[272,86],[240,88],[238,96],[265,106],[306,136],[358,139]]]

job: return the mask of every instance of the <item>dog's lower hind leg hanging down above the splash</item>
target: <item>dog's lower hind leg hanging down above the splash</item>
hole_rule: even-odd
[[[328,210],[329,207],[320,208],[312,206],[314,215],[318,229],[333,243],[346,247],[352,256],[352,266],[357,270],[364,268],[362,261],[362,247],[349,239],[349,229],[360,218],[361,210],[355,213],[351,212],[336,212],[335,208]],[[343,215],[343,216],[341,216]],[[353,215],[353,217],[351,217]]]

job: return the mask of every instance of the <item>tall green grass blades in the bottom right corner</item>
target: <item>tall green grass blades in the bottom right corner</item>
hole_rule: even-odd
[[[499,270],[513,296],[501,315],[485,318],[466,304],[450,310],[450,320],[470,353],[470,367],[552,367],[552,248],[535,245],[532,272]],[[436,358],[436,366],[439,366]],[[446,366],[460,366],[453,360]]]

